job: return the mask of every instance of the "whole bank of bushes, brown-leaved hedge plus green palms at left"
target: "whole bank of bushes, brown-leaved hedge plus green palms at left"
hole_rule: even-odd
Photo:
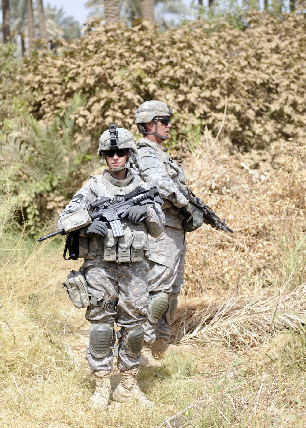
[[[86,154],[96,153],[102,131],[111,122],[136,131],[144,100],[173,108],[172,143],[204,148],[222,129],[223,146],[250,151],[303,135],[304,15],[254,12],[248,25],[242,32],[195,21],[159,33],[146,21],[132,29],[90,21],[84,37],[56,51],[37,49],[19,70],[12,46],[0,46],[0,185],[21,217],[37,228],[62,208],[86,179]],[[34,118],[24,115],[28,109]],[[12,116],[22,117],[4,120]]]

